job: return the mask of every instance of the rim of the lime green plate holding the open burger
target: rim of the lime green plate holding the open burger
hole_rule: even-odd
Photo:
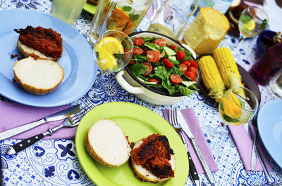
[[[159,116],[159,114],[157,114],[156,112],[153,112],[152,110],[148,109],[147,107],[143,107],[142,105],[137,105],[137,104],[131,103],[131,102],[106,102],[106,103],[104,103],[104,104],[102,104],[102,105],[98,105],[97,107],[110,107],[110,106],[113,106],[113,105],[114,105],[114,106],[119,105],[120,107],[126,107],[126,106],[128,106],[128,105],[131,105],[131,106],[134,106],[134,107],[136,107],[136,108],[138,107],[138,108],[141,108],[141,109],[145,109],[146,112],[151,113],[151,114],[154,115],[155,117],[159,117],[159,119],[163,119],[163,120],[166,122],[166,124],[167,124],[166,126],[167,126],[168,128],[170,128],[169,131],[175,131],[174,128],[173,128],[170,124],[168,124],[167,121],[166,121],[163,117]],[[89,112],[87,112],[87,114],[92,114],[92,112],[94,112],[94,110],[95,110],[97,107],[94,107],[93,109],[91,109]],[[117,106],[116,106],[116,107],[117,107]],[[132,107],[131,107],[130,109],[132,109]],[[86,116],[87,114],[85,114],[85,116]],[[85,116],[82,118],[81,121],[83,121],[83,119],[85,118]],[[80,123],[81,123],[81,121],[80,121]],[[170,127],[169,127],[169,126],[170,126]],[[81,162],[82,160],[81,160],[81,157],[80,157],[80,153],[83,153],[83,152],[79,152],[79,149],[85,148],[85,146],[84,146],[85,143],[83,142],[83,147],[80,147],[80,139],[79,139],[79,137],[78,137],[78,135],[79,135],[78,133],[80,133],[80,130],[82,130],[82,129],[80,129],[80,128],[81,128],[81,125],[78,125],[77,131],[76,131],[76,133],[75,133],[75,149],[76,149],[76,152],[77,152],[78,160],[80,161],[80,165],[82,166],[83,170],[85,171],[85,173],[87,174],[87,176],[90,178],[90,180],[92,180],[95,184],[100,185],[100,184],[102,184],[103,182],[99,182],[99,180],[92,179],[92,176],[89,175],[89,173],[88,173],[87,170],[85,170],[84,163]],[[178,136],[178,134],[176,133],[176,131],[175,131],[174,134],[171,134],[171,135]],[[145,137],[147,137],[147,136],[145,136]],[[186,162],[187,162],[187,163],[186,163],[187,170],[186,170],[186,173],[185,173],[185,180],[184,180],[184,176],[183,176],[183,184],[185,184],[186,180],[188,179],[188,174],[189,174],[188,155],[187,155],[187,152],[186,152],[186,150],[185,150],[185,147],[184,147],[184,145],[183,145],[182,140],[180,140],[180,138],[176,138],[176,139],[177,139],[177,142],[176,142],[176,143],[182,144],[182,147],[177,147],[177,148],[180,150],[181,154],[182,154],[182,153],[184,154],[185,158],[187,159],[187,161],[186,161]],[[174,139],[174,140],[176,140],[176,139]],[[169,139],[168,139],[168,140],[169,140]],[[94,161],[94,160],[93,160],[93,161]],[[178,161],[180,161],[180,160],[178,160]],[[177,166],[176,166],[176,168],[177,168]],[[99,173],[101,173],[101,172],[99,172]],[[105,178],[105,177],[103,176],[103,179],[104,179],[104,178]],[[109,181],[111,182],[111,180],[109,180]],[[146,183],[146,182],[145,182],[145,183]]]

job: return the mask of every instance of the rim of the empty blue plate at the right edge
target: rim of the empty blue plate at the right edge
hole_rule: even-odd
[[[260,121],[260,118],[262,117],[262,112],[264,112],[265,109],[268,109],[269,107],[271,107],[271,105],[276,104],[277,102],[281,102],[282,104],[282,100],[271,100],[269,102],[266,102],[260,109],[259,109],[259,113],[257,114],[257,128],[259,130],[259,136],[262,138],[262,143],[266,149],[266,151],[269,153],[269,155],[271,156],[272,159],[274,159],[274,161],[276,162],[276,164],[278,166],[280,166],[282,168],[282,157],[279,158],[277,157],[277,155],[274,154],[274,152],[271,152],[272,149],[269,149],[269,147],[267,147],[267,144],[269,143],[269,140],[267,140],[264,137],[264,130],[262,130],[262,124]],[[282,107],[282,106],[281,106]]]

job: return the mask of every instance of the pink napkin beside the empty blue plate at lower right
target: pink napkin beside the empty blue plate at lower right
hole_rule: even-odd
[[[249,122],[249,124],[252,124]],[[229,131],[232,135],[232,138],[235,142],[237,150],[240,154],[240,157],[243,161],[243,165],[245,166],[246,171],[263,171],[262,164],[259,162],[259,158],[257,157],[257,167],[256,170],[252,170],[251,168],[251,156],[252,156],[252,140],[245,130],[244,126],[228,126]],[[264,153],[263,147],[261,144],[258,144],[259,151],[262,153],[262,159],[266,162],[267,168],[272,170],[268,159]]]

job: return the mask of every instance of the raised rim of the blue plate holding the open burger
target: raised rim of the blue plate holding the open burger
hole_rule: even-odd
[[[18,15],[21,15],[21,14],[24,14],[24,13],[27,13],[27,12],[32,14],[32,15],[35,15],[35,16],[41,15],[41,16],[44,16],[44,18],[50,18],[51,20],[54,20],[55,22],[59,23],[60,25],[63,25],[64,28],[67,27],[68,30],[73,29],[71,32],[75,33],[75,35],[79,37],[80,41],[84,41],[85,44],[87,44],[87,45],[85,45],[85,48],[88,48],[87,50],[89,50],[89,54],[91,53],[91,55],[92,55],[92,47],[87,42],[87,40],[82,36],[82,34],[80,34],[80,32],[78,32],[74,27],[72,27],[68,23],[64,22],[63,20],[60,20],[59,18],[56,18],[55,16],[53,16],[51,14],[44,13],[42,11],[33,11],[33,10],[25,10],[25,9],[8,9],[8,10],[6,9],[6,10],[1,11],[0,14],[6,15],[7,13],[15,13],[15,15],[18,16]],[[30,22],[30,24],[32,24],[32,22]],[[28,25],[28,23],[27,23],[27,25]],[[50,25],[50,27],[51,27],[51,25]],[[53,27],[52,29],[57,29],[57,28]],[[62,32],[60,31],[60,33],[62,33]],[[66,32],[64,32],[64,33],[66,33]],[[66,34],[66,35],[68,35],[68,34]],[[85,50],[85,51],[87,51],[87,50]],[[78,64],[79,64],[79,62],[78,62]],[[70,102],[73,102],[73,101],[81,98],[82,95],[85,95],[85,93],[87,93],[87,91],[89,91],[90,88],[92,87],[92,85],[94,84],[94,81],[97,77],[97,65],[94,62],[93,62],[93,64],[94,64],[94,66],[93,66],[94,72],[92,74],[93,76],[92,76],[92,79],[90,81],[90,84],[88,84],[84,88],[80,88],[80,89],[84,90],[84,91],[81,91],[80,94],[77,94],[76,96],[71,96],[71,97],[68,96],[63,101],[62,100],[56,100],[54,102],[49,103],[49,102],[41,102],[41,101],[38,101],[38,100],[32,101],[32,99],[18,98],[17,95],[12,95],[12,97],[11,97],[11,95],[10,95],[11,91],[7,93],[5,90],[1,90],[1,88],[0,88],[0,94],[2,96],[4,96],[5,98],[8,98],[9,100],[13,100],[13,101],[21,103],[23,105],[30,105],[30,106],[35,106],[35,107],[57,107],[57,106],[61,106],[61,105],[66,105],[66,104],[69,104]],[[4,76],[4,78],[6,78],[6,77]],[[59,92],[59,93],[61,93],[61,92]],[[49,94],[46,94],[46,95],[48,96]],[[44,97],[44,95],[34,95],[34,96]],[[44,98],[42,98],[42,99],[44,99]]]

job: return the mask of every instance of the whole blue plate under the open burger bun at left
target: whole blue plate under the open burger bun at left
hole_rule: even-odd
[[[84,95],[94,84],[97,65],[87,40],[71,25],[59,18],[38,11],[0,11],[0,94],[13,101],[37,107],[66,105]],[[18,34],[13,29],[45,27],[54,29],[63,39],[63,55],[58,60],[65,72],[61,85],[47,95],[34,95],[23,90],[13,81],[13,64],[20,54],[17,48]]]

